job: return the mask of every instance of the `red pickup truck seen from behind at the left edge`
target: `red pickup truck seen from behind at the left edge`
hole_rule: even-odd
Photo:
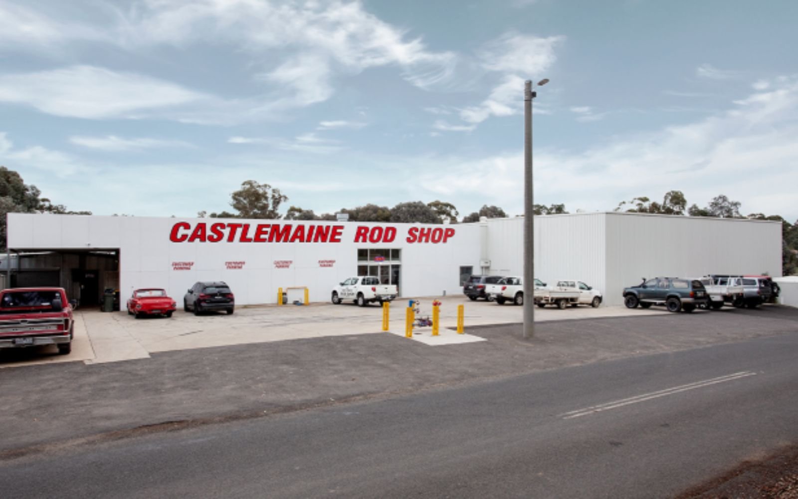
[[[17,287],[0,291],[0,348],[56,345],[72,351],[72,307],[61,287]]]

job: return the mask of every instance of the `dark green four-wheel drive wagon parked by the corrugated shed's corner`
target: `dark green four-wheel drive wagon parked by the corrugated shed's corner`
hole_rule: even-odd
[[[671,312],[692,312],[698,306],[706,306],[709,296],[698,279],[654,277],[643,279],[638,286],[626,287],[623,290],[623,303],[627,308],[665,305]]]

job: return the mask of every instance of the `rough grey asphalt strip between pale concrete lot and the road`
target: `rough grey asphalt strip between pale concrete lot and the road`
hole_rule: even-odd
[[[144,322],[144,321],[141,321]],[[149,353],[0,370],[0,458],[153,430],[479,382],[629,356],[798,333],[798,310],[560,320],[472,327],[442,347],[389,333]],[[656,374],[652,374],[656,375]],[[434,415],[430,415],[433,417]]]

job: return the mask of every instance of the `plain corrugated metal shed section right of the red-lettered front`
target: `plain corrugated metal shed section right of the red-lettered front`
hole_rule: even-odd
[[[488,220],[491,273],[523,274],[523,218]],[[781,225],[638,213],[535,217],[535,276],[579,279],[622,304],[642,277],[781,275]]]

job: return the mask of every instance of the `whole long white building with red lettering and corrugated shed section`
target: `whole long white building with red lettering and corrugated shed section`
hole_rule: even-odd
[[[236,303],[276,303],[279,287],[326,301],[351,275],[377,275],[402,296],[462,292],[470,274],[523,275],[523,219],[381,224],[129,216],[8,215],[3,279],[57,285],[88,305],[107,288],[126,300],[164,287],[180,301],[196,281],[223,280]],[[535,276],[579,279],[622,303],[654,275],[781,275],[781,225],[636,213],[535,217]],[[10,277],[10,279],[8,279]]]

